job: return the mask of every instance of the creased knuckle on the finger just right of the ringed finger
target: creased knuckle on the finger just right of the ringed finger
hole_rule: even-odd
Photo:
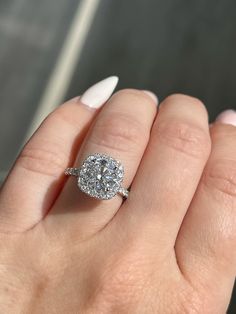
[[[209,154],[209,135],[203,129],[190,123],[160,122],[154,128],[154,136],[165,145],[195,158]]]

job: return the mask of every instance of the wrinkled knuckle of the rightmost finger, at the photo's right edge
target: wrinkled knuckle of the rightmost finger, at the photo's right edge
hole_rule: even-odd
[[[210,164],[203,180],[217,192],[218,197],[223,195],[236,199],[236,160],[217,160]]]

